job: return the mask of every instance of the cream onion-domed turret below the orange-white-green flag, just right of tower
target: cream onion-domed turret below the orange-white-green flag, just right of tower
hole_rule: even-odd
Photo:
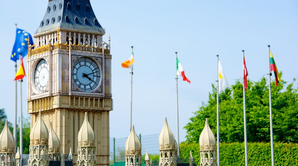
[[[125,166],[142,165],[142,145],[132,125],[131,133],[125,142]]]

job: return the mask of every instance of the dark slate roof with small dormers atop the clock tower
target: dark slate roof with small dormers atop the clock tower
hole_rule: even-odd
[[[65,28],[105,32],[98,22],[90,0],[51,0],[46,14],[35,34],[51,29]]]

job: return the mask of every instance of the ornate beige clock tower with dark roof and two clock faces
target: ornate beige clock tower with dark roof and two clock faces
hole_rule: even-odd
[[[111,95],[110,37],[89,0],[48,0],[28,53],[27,113],[31,128],[39,111],[77,162],[78,132],[84,119],[94,130],[96,165],[109,165]],[[85,116],[85,112],[87,115]]]

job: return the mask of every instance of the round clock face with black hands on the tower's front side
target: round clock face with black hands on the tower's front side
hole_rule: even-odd
[[[79,58],[72,65],[72,81],[84,92],[96,89],[100,81],[100,70],[90,58]]]

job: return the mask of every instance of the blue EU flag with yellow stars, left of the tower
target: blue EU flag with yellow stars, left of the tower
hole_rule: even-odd
[[[19,54],[21,54],[23,57],[28,54],[28,37],[29,43],[33,45],[33,40],[30,33],[17,28],[15,44],[13,45],[13,51],[10,56],[11,60],[16,62],[19,59]]]

